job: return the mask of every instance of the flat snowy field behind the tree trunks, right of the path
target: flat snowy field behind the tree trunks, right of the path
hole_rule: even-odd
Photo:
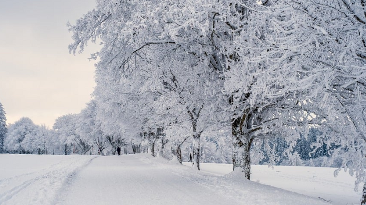
[[[232,171],[232,165],[202,163],[201,170],[222,176]],[[359,184],[355,192],[355,177],[342,170],[334,177],[335,170],[326,167],[252,165],[251,181],[322,198],[335,205],[359,205],[363,184]]]

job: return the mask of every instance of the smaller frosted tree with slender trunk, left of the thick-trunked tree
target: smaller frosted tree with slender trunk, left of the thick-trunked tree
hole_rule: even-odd
[[[176,49],[179,53],[179,49]],[[158,71],[160,92],[157,100],[158,113],[162,116],[175,116],[179,121],[189,121],[192,132],[193,163],[199,169],[201,134],[217,119],[217,93],[220,88],[217,74],[208,71],[205,62],[191,54],[170,55],[170,60],[161,60]],[[177,67],[179,65],[179,67]],[[173,70],[175,68],[175,70]],[[217,90],[215,90],[217,89]],[[174,119],[174,118],[173,118]],[[172,119],[169,119],[172,120]],[[165,121],[169,124],[171,121]],[[177,140],[177,139],[173,139]],[[184,139],[179,139],[182,141]],[[175,144],[175,143],[173,143]]]

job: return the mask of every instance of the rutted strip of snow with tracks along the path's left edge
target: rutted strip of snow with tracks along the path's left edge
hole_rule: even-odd
[[[5,192],[0,193],[0,204],[16,205],[24,201],[28,204],[52,204],[67,178],[94,158],[96,156],[75,156],[40,171],[3,179],[1,183],[6,182],[7,187]]]

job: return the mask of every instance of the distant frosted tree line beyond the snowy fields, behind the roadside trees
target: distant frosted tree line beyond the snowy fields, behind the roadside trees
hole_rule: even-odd
[[[12,154],[115,154],[116,148],[122,148],[122,153],[133,154],[147,152],[148,148],[143,149],[143,144],[137,139],[131,138],[126,141],[126,137],[116,138],[108,136],[98,128],[98,124],[93,119],[96,104],[91,101],[87,107],[78,115],[64,115],[56,120],[53,129],[45,125],[36,125],[28,117],[22,117],[14,124],[6,125],[5,111],[0,104],[1,119],[1,153]],[[155,135],[154,132],[142,135]],[[164,135],[158,134],[163,137]],[[210,132],[210,135],[202,136],[201,160],[207,163],[231,163],[232,149],[227,146],[230,144],[229,131]],[[94,137],[91,137],[94,136]],[[323,141],[322,132],[311,128],[307,134],[300,134],[293,148],[282,136],[259,140],[258,150],[251,150],[254,157],[253,163],[260,165],[293,165],[293,166],[340,166],[341,159],[332,157],[332,150],[340,147],[333,145],[328,147]],[[156,140],[158,138],[154,138]],[[192,153],[191,139],[182,143],[182,160],[188,161],[189,154]],[[156,153],[165,158],[171,156],[162,147],[163,141],[155,142]],[[167,142],[165,142],[167,143]],[[149,146],[152,146],[150,144]],[[266,146],[268,146],[266,148]],[[273,154],[269,154],[271,150]]]

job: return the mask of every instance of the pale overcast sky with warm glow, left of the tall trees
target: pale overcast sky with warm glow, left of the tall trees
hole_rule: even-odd
[[[68,53],[72,24],[95,0],[0,0],[0,102],[7,123],[29,117],[52,128],[54,120],[79,113],[91,99],[98,51]],[[91,44],[91,43],[90,43]]]

